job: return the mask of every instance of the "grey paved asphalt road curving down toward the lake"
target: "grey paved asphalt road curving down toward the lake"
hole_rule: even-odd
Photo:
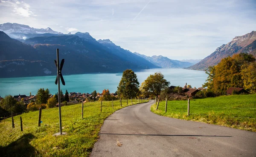
[[[159,116],[153,103],[111,114],[91,157],[256,157],[255,132]]]

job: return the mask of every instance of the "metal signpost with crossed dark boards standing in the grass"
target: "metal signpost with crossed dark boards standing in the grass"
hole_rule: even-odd
[[[62,134],[67,134],[67,132],[62,132],[62,126],[61,126],[61,85],[60,85],[60,79],[61,83],[65,86],[65,81],[63,79],[63,76],[61,74],[61,70],[64,64],[64,59],[61,60],[61,65],[59,65],[59,51],[57,49],[57,61],[55,61],[55,65],[57,66],[57,77],[55,80],[55,84],[58,84],[58,106],[59,106],[59,117],[60,117],[60,132],[54,134],[55,136],[62,135]]]

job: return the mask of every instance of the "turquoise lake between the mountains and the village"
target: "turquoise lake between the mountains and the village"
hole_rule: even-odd
[[[142,83],[150,74],[162,72],[165,79],[171,83],[171,86],[183,87],[186,83],[192,87],[201,87],[207,79],[204,71],[186,70],[186,69],[147,69],[136,71],[139,83]],[[63,76],[66,86],[61,84],[63,92],[91,93],[96,90],[102,93],[103,89],[109,89],[111,93],[117,90],[117,86],[122,77],[122,73],[96,73],[96,74],[76,74]],[[0,96],[8,94],[35,95],[39,88],[48,88],[51,94],[58,91],[55,85],[56,76],[42,77],[15,77],[0,78]]]

